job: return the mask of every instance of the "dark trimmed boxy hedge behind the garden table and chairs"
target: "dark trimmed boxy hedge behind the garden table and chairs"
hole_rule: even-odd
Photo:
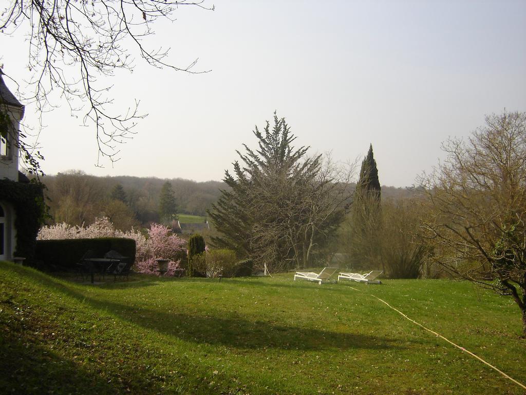
[[[97,258],[115,250],[135,263],[135,240],[123,238],[37,240],[36,259],[43,262],[43,269],[72,269],[88,250]]]

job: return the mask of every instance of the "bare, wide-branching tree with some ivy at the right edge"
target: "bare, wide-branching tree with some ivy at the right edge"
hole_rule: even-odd
[[[526,113],[504,112],[448,154],[421,184],[433,210],[424,221],[437,261],[514,299],[526,335]]]

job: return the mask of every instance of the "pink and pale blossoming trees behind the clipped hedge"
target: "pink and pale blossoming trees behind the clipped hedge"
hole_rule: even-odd
[[[181,257],[186,255],[185,241],[171,232],[166,226],[152,224],[148,236],[139,230],[127,232],[116,230],[106,218],[97,218],[89,226],[71,226],[60,223],[43,226],[38,232],[37,240],[61,239],[96,239],[96,238],[127,238],[135,240],[135,267],[139,273],[160,275],[157,259],[168,260],[167,276],[180,276],[183,269],[180,266]]]

